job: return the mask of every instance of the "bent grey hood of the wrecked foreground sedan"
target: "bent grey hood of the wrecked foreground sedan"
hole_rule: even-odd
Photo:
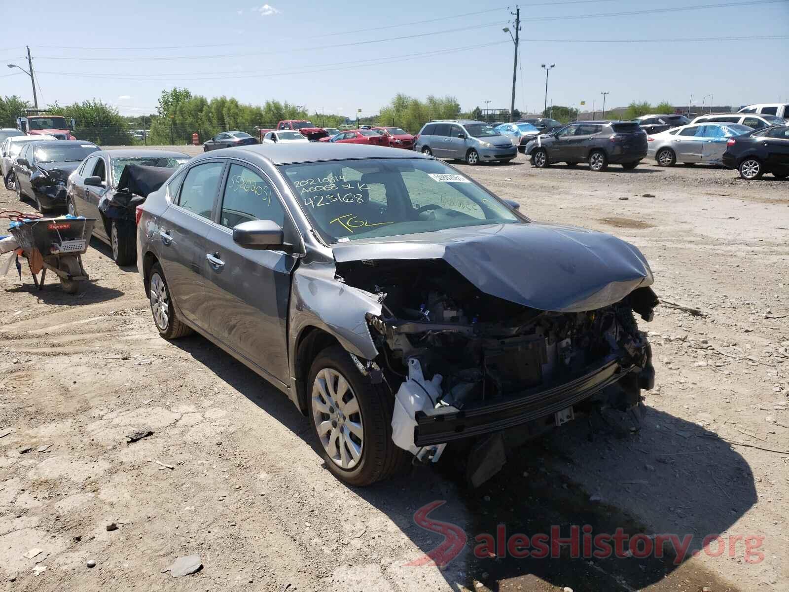
[[[540,310],[577,313],[619,302],[653,283],[628,242],[544,223],[492,224],[332,245],[339,263],[443,259],[486,294]]]

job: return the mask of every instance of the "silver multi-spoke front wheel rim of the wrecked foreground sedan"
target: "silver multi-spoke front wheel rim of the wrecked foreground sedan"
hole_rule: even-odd
[[[332,462],[346,470],[357,466],[365,448],[359,400],[333,368],[320,370],[312,384],[312,421]]]

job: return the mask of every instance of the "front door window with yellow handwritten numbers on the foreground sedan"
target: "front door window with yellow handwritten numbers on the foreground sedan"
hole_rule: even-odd
[[[266,179],[254,170],[232,164],[222,196],[219,223],[232,228],[249,220],[274,220],[282,226],[285,211]]]

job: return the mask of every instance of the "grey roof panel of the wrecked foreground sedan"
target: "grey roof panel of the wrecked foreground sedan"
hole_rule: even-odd
[[[275,165],[368,158],[431,158],[430,156],[422,155],[421,152],[402,150],[402,148],[385,148],[383,146],[371,146],[368,144],[327,145],[319,142],[308,142],[305,144],[282,145],[249,144],[248,146],[239,146],[237,148],[222,148],[221,150],[212,150],[211,152],[206,152],[204,155],[196,156],[195,159],[211,159],[218,156],[249,159],[252,155],[261,159],[266,159]]]

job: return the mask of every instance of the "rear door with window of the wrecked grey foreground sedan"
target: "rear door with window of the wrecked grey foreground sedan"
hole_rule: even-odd
[[[170,294],[184,318],[206,331],[211,311],[204,294],[205,240],[225,164],[212,159],[183,171],[178,193],[159,224],[159,260]]]

